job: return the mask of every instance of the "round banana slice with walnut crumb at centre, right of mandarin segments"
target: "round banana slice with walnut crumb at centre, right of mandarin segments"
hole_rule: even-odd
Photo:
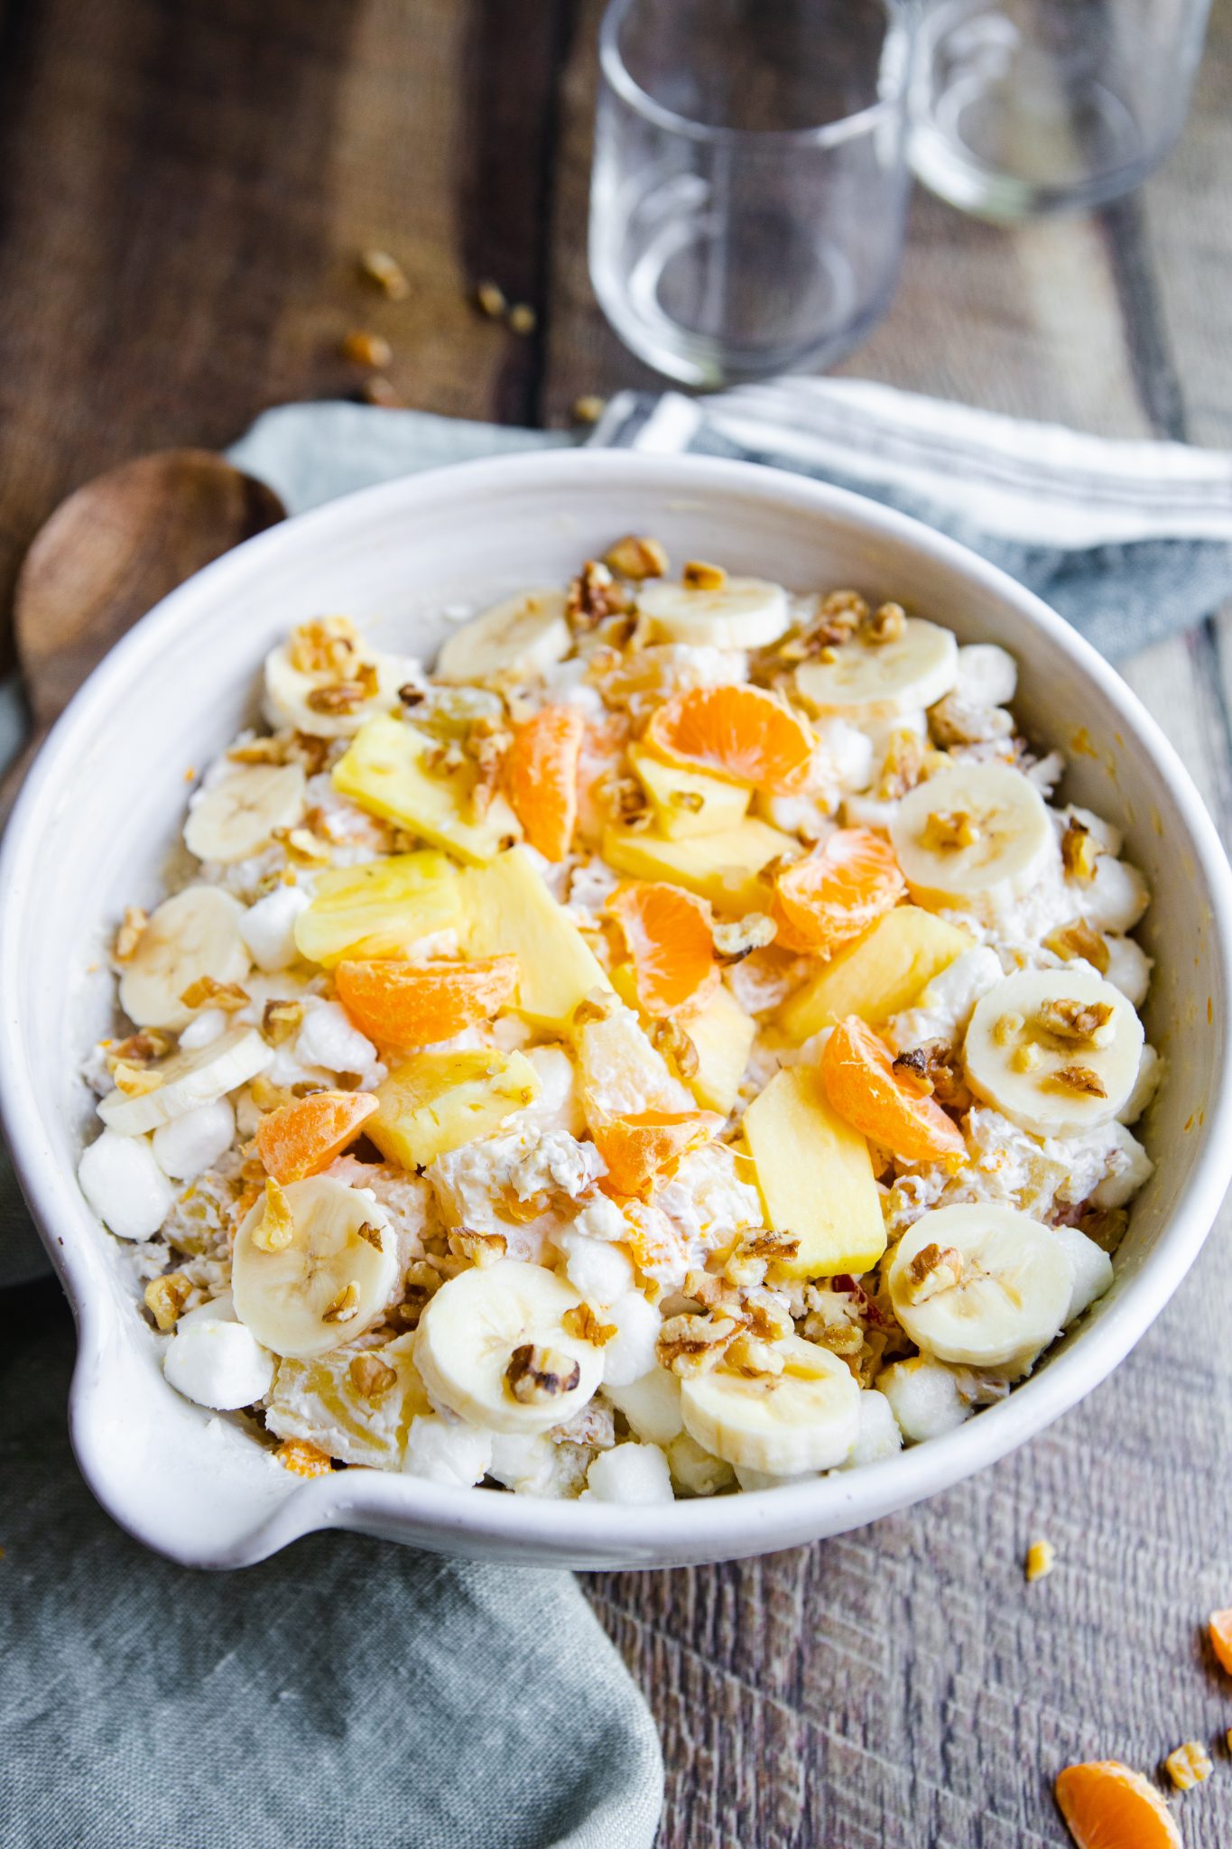
[[[960,906],[994,921],[1057,858],[1044,797],[1009,764],[959,764],[916,784],[890,841],[918,906]]]

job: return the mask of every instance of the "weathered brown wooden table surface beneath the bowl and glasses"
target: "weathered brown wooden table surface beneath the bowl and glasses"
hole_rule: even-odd
[[[586,276],[593,0],[0,0],[0,595],[55,501],[142,449],[222,446],[356,388],[562,423],[654,383]],[[898,300],[846,372],[1117,436],[1232,446],[1232,0],[1184,142],[1130,202],[999,231],[918,196]],[[366,244],[412,283],[384,301]],[[477,314],[491,276],[537,311]],[[1232,819],[1232,618],[1127,679]],[[1068,1760],[1206,1740],[1190,1849],[1232,1842],[1232,1230],[1049,1433],[861,1533],[595,1575],[663,1734],[663,1849],[1060,1843]],[[63,1322],[52,1285],[41,1315]],[[1027,1586],[1025,1544],[1058,1564]]]

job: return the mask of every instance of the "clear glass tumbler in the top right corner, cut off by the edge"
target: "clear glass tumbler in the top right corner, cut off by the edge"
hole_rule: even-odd
[[[1103,205],[1184,128],[1210,0],[931,0],[911,165],[983,218]]]

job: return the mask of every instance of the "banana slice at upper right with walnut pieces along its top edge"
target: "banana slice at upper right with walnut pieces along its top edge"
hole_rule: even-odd
[[[892,719],[920,712],[949,693],[959,679],[959,643],[951,631],[909,616],[892,642],[857,636],[829,651],[829,662],[802,662],[796,690],[805,706],[844,719]]]

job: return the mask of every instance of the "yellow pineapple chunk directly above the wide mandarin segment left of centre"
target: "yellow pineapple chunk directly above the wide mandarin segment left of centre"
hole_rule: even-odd
[[[419,937],[462,924],[462,876],[445,854],[390,854],[318,873],[296,919],[296,949],[332,969],[344,956],[408,956]]]

